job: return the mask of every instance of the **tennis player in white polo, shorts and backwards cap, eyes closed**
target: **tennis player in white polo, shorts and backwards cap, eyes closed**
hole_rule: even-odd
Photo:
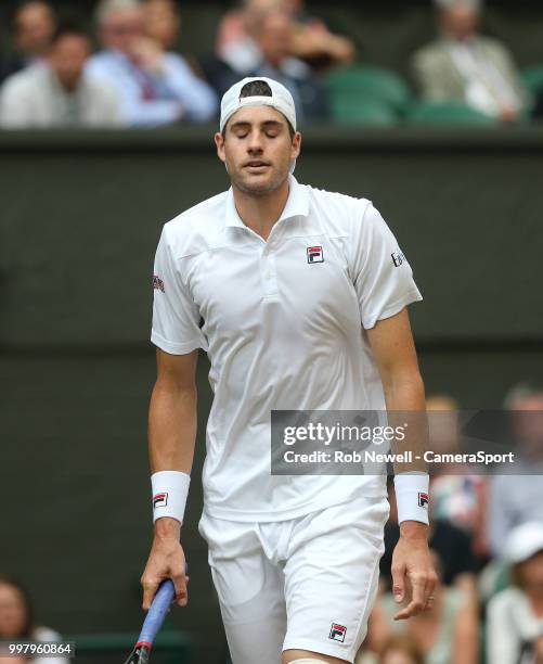
[[[270,412],[424,410],[406,306],[421,299],[372,203],[300,184],[290,93],[246,78],[215,141],[231,188],[164,227],[154,269],[150,411],[154,541],[143,608],[173,579],[196,434],[198,348],[211,362],[204,512],[234,664],[353,662],[375,598],[388,518],[384,475],[276,476]],[[397,618],[431,605],[428,476],[395,477]],[[181,542],[181,544],[180,544]]]

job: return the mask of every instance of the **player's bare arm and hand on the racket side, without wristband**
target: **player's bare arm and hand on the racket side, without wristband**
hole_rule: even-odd
[[[151,470],[190,474],[196,439],[196,363],[198,352],[169,355],[157,349],[157,380],[151,397],[148,451]],[[180,544],[181,523],[163,516],[154,527],[151,554],[141,578],[143,609],[148,609],[159,583],[171,578],[176,601],[188,601],[185,559]]]

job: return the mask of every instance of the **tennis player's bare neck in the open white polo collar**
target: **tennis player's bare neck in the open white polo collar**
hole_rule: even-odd
[[[273,226],[285,209],[289,189],[288,178],[279,189],[261,196],[247,194],[233,184],[235,208],[240,218],[247,228],[268,240]]]

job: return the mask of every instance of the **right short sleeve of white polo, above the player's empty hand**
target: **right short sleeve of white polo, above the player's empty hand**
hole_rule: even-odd
[[[375,207],[357,205],[350,254],[351,278],[365,330],[390,318],[422,295],[408,259]]]

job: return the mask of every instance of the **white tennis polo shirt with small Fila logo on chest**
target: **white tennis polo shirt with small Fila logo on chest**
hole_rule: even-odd
[[[152,342],[203,348],[211,363],[204,510],[219,519],[280,521],[386,495],[384,475],[270,472],[272,409],[385,409],[365,330],[422,299],[370,201],[289,184],[267,241],[230,189],[166,224],[156,253]]]

